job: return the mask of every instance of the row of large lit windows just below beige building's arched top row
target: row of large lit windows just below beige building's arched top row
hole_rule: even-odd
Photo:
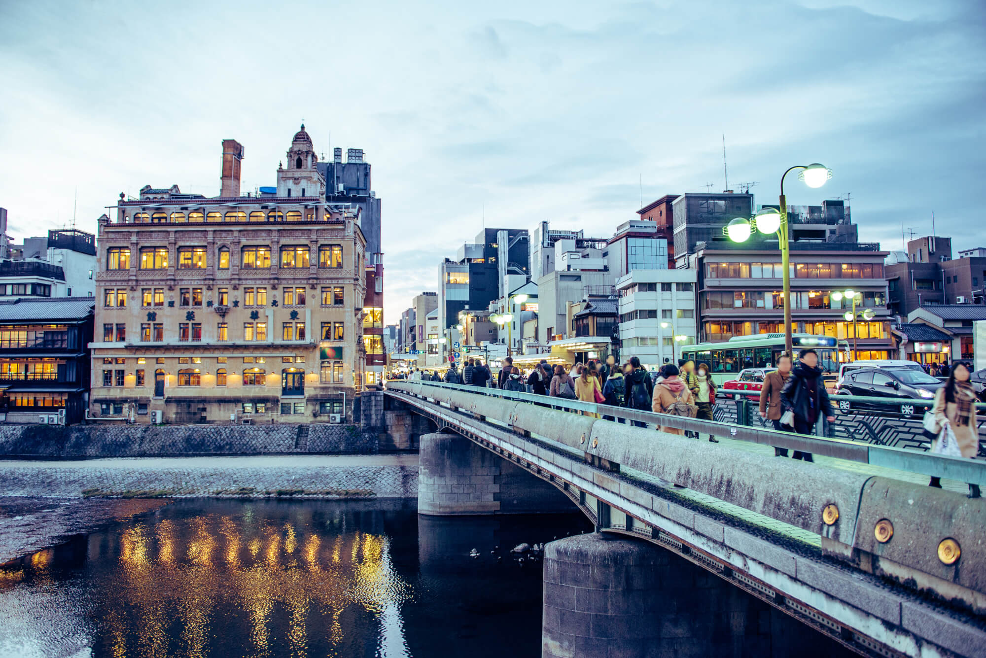
[[[177,269],[204,270],[207,265],[207,248],[204,246],[186,246],[177,248]],[[281,247],[281,267],[285,269],[306,268],[311,264],[311,248],[307,246]],[[141,247],[138,251],[140,259],[138,267],[141,270],[166,270],[169,267],[170,251],[168,247]],[[244,269],[259,269],[270,267],[271,249],[269,246],[246,246],[241,249],[240,267]],[[230,267],[230,250],[220,247],[217,252],[219,269]],[[318,267],[342,267],[342,245],[325,244],[318,247]],[[130,269],[130,247],[109,247],[106,249],[107,270]]]

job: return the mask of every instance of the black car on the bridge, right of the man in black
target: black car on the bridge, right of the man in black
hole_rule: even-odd
[[[945,382],[942,380],[910,367],[862,367],[846,374],[839,388],[839,395],[887,398],[887,403],[899,402],[902,399],[931,402],[935,397],[935,391],[944,385]],[[839,400],[839,409],[841,411],[874,409],[890,413],[896,413],[899,409],[904,416],[912,416],[915,410],[923,413],[925,407]]]

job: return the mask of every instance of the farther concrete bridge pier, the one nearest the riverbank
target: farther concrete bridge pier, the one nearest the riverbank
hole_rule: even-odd
[[[553,485],[451,432],[422,434],[418,513],[533,514],[577,507]]]

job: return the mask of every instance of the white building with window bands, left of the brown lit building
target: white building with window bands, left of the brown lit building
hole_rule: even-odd
[[[677,364],[681,347],[697,342],[695,270],[634,270],[616,282],[620,361],[648,368]]]

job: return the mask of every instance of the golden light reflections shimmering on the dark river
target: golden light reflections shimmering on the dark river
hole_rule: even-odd
[[[109,536],[117,569],[102,618],[106,653],[194,658],[232,650],[224,642],[235,637],[246,645],[237,655],[280,655],[285,645],[298,658],[349,654],[366,640],[347,638],[340,618],[359,612],[382,625],[382,611],[411,588],[390,567],[386,536],[319,536],[309,520],[254,510],[249,523],[207,514]]]

